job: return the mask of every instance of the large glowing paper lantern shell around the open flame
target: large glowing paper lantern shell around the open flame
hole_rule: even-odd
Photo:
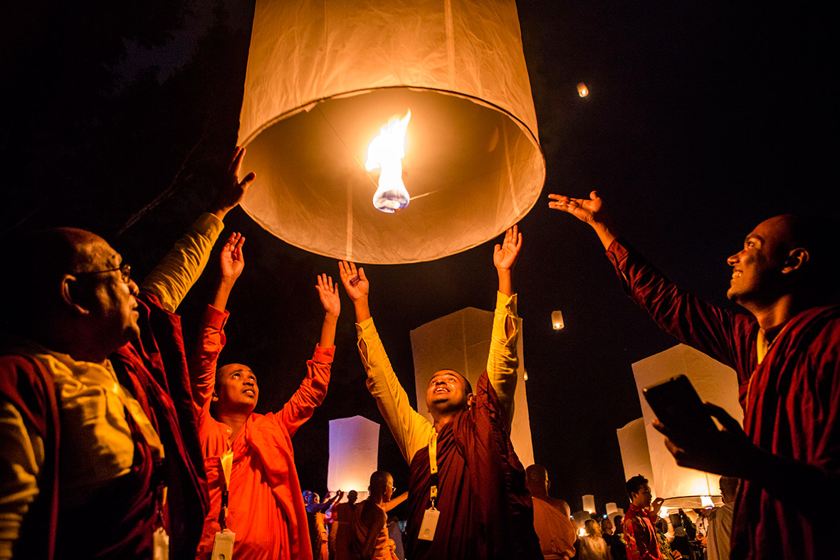
[[[366,150],[409,109],[412,201],[385,214]],[[515,3],[258,0],[239,145],[244,211],[307,251],[410,263],[496,237],[545,178]]]

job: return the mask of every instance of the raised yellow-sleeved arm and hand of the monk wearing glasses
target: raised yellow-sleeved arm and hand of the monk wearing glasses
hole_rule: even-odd
[[[244,154],[244,148],[236,148],[234,159],[228,167],[228,174],[218,191],[218,196],[210,205],[209,213],[198,218],[140,286],[142,290],[155,294],[167,311],[175,311],[181,305],[186,292],[202,274],[213,243],[216,243],[219,233],[222,233],[223,218],[242,201],[245,191],[254,181],[253,173],[239,181],[239,168]]]

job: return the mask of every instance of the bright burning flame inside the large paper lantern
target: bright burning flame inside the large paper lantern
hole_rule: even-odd
[[[403,118],[391,118],[380,128],[379,136],[368,146],[365,169],[381,169],[379,188],[373,196],[373,205],[382,212],[393,213],[408,206],[410,196],[402,182],[402,158],[406,156],[406,128],[412,118],[409,109]]]

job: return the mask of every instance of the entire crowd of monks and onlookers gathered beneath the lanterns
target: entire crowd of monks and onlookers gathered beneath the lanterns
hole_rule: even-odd
[[[223,218],[255,180],[239,180],[243,155],[236,149],[209,212],[139,285],[94,233],[54,228],[15,239],[15,270],[2,279],[0,558],[393,560],[403,542],[412,560],[692,554],[692,521],[678,515],[663,527],[661,499],[641,476],[627,481],[620,523],[588,520],[578,535],[569,506],[549,496],[545,468],[525,469],[517,458],[517,226],[493,251],[486,371],[475,388],[454,369],[434,373],[431,421],[391,367],[365,270],[339,262],[367,387],[407,463],[409,488],[395,498],[391,474],[376,471],[359,504],[355,492],[344,503],[342,493],[322,501],[304,492],[292,437],[327,394],[339,282],[318,276],[318,344],[299,388],[267,414],[255,412],[255,372],[219,362],[228,296],[244,270],[239,233],[223,245],[190,351],[176,314]],[[827,233],[795,216],[754,228],[727,261],[728,296],[748,311],[738,314],[672,285],[617,235],[596,192],[549,197],[549,207],[594,228],[624,290],[659,327],[738,372],[743,429],[711,404],[720,429],[657,424],[677,463],[725,475],[726,504],[701,516],[710,560],[840,557],[816,507],[840,494],[840,306],[823,305],[834,278]],[[388,511],[402,500],[407,525],[397,543]]]

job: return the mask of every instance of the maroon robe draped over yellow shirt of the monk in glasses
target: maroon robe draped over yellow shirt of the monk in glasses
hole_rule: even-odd
[[[196,421],[188,400],[181,320],[160,307],[149,293],[141,292],[138,304],[139,340],[125,344],[110,359],[120,384],[138,400],[160,435],[165,461],[152,458],[150,447],[127,415],[135,445],[131,472],[85,503],[64,503],[58,495],[60,473],[55,474],[55,453],[60,448],[60,434],[50,372],[23,357],[3,358],[3,395],[18,406],[45,442],[39,495],[24,518],[16,555],[18,551],[38,551],[31,557],[55,554],[151,560],[152,534],[161,510],[171,537],[171,558],[192,557],[207,498]],[[14,390],[6,376],[9,365],[17,379]],[[168,488],[166,506],[160,490],[164,485]]]

